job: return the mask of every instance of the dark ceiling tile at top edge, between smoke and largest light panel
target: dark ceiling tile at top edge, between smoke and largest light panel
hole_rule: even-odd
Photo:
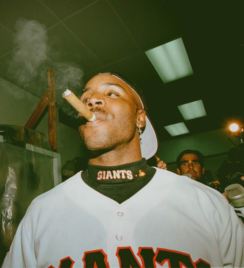
[[[97,2],[64,23],[104,64],[139,51],[105,0]]]

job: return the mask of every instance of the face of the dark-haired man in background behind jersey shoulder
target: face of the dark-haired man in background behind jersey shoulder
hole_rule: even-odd
[[[204,167],[199,163],[199,158],[195,154],[185,154],[180,161],[180,168],[177,168],[177,173],[183,175],[188,173],[192,179],[200,180],[204,174]]]

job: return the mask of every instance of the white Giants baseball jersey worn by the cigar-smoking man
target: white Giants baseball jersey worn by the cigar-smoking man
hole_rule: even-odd
[[[244,227],[225,197],[157,168],[121,204],[81,172],[35,198],[2,267],[244,267]]]

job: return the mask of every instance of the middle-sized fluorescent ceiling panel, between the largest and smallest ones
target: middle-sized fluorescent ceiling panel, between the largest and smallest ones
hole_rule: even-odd
[[[182,113],[184,120],[206,116],[202,100],[186,103],[178,106],[178,108]]]

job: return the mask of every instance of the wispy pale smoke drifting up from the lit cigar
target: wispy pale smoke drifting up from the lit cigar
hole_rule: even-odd
[[[44,24],[20,18],[15,29],[16,49],[8,62],[9,76],[17,86],[42,98],[47,90],[47,70],[55,71],[56,106],[76,118],[77,112],[63,100],[62,92],[69,88],[80,97],[83,77],[81,68],[74,63],[61,61],[67,52],[57,49],[55,44],[58,40],[48,38]]]

